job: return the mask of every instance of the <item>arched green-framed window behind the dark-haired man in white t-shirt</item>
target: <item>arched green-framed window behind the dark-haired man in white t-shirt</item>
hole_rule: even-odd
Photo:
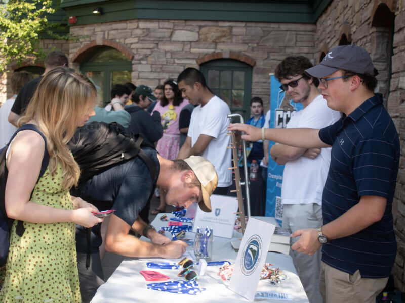
[[[246,122],[250,118],[252,66],[233,59],[217,59],[200,65],[208,87]]]

